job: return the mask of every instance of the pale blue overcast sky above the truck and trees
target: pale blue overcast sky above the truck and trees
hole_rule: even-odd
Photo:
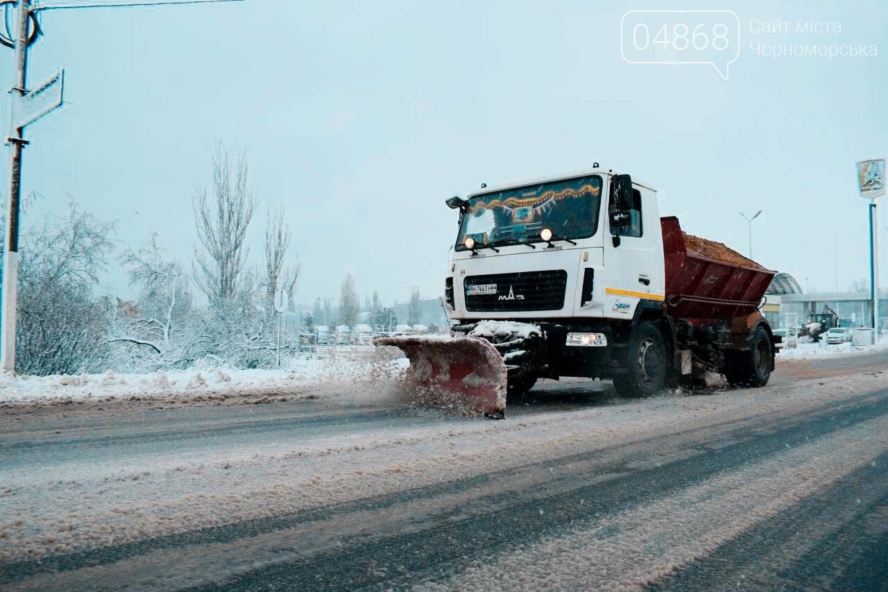
[[[57,0],[44,0],[44,5]],[[707,65],[622,60],[620,23],[654,2],[296,2],[45,12],[36,83],[67,69],[63,110],[28,129],[24,190],[35,223],[67,194],[119,220],[136,244],[160,232],[190,264],[190,200],[222,140],[246,148],[259,211],[287,204],[303,263],[297,300],[438,295],[456,214],[481,182],[589,166],[659,190],[686,231],[748,252],[805,286],[868,275],[854,161],[888,155],[884,2],[683,2],[741,22],[724,80]],[[750,32],[752,20],[791,32]],[[841,22],[796,33],[796,22]],[[876,44],[876,57],[757,55],[749,44]],[[12,52],[0,76],[12,80]],[[888,207],[888,202],[883,207]],[[882,217],[888,284],[888,215]],[[126,293],[115,266],[107,285]]]

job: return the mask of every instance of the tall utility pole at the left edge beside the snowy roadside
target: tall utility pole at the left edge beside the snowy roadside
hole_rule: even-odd
[[[15,74],[12,78],[12,104],[22,101],[28,93],[28,19],[31,0],[19,0],[16,12],[17,33],[15,39]],[[16,109],[10,108],[10,132],[6,142],[10,150],[9,196],[6,203],[6,250],[3,262],[3,313],[0,365],[3,370],[15,371],[15,321],[17,289],[19,286],[19,212],[21,198],[21,149],[25,140],[25,126],[17,126]]]

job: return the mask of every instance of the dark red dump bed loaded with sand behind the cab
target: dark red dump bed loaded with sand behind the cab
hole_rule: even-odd
[[[776,271],[724,244],[686,236],[675,216],[660,223],[670,315],[720,319],[747,316],[758,308]]]

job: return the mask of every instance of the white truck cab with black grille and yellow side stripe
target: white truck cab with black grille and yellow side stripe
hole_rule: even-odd
[[[450,318],[631,319],[640,302],[662,302],[656,191],[633,179],[629,203],[619,204],[614,188],[625,178],[597,167],[461,200]],[[630,212],[630,223],[613,220],[616,212]]]

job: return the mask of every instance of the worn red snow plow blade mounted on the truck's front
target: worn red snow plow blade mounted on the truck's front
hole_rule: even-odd
[[[506,368],[487,340],[462,334],[381,337],[410,359],[408,380],[424,402],[458,404],[496,419],[505,417]]]

